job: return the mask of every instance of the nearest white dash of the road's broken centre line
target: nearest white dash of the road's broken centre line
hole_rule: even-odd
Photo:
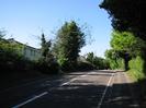
[[[48,94],[48,93],[47,93],[47,92],[44,92],[44,93],[42,93],[42,94],[40,94],[40,95],[36,95],[36,96],[34,96],[33,98],[30,98],[30,99],[27,99],[26,101],[23,101],[23,103],[21,103],[21,104],[14,106],[14,107],[12,107],[12,108],[20,108],[20,107],[22,107],[22,106],[24,106],[24,105],[26,105],[26,104],[29,104],[29,103],[31,103],[31,101],[37,99],[37,98],[41,98],[42,96],[44,96],[44,95],[46,95],[46,94]]]

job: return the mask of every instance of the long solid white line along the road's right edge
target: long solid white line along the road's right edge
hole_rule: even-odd
[[[100,108],[101,105],[102,105],[102,101],[103,101],[103,99],[104,99],[104,97],[105,97],[106,91],[108,91],[108,88],[109,88],[109,86],[110,86],[110,83],[111,83],[113,76],[114,76],[113,74],[114,74],[114,73],[112,73],[112,76],[111,76],[110,80],[108,81],[108,85],[106,85],[106,87],[105,87],[105,89],[104,89],[104,92],[103,92],[103,94],[102,94],[102,97],[101,97],[101,99],[100,99],[99,105],[98,105],[97,108]]]

